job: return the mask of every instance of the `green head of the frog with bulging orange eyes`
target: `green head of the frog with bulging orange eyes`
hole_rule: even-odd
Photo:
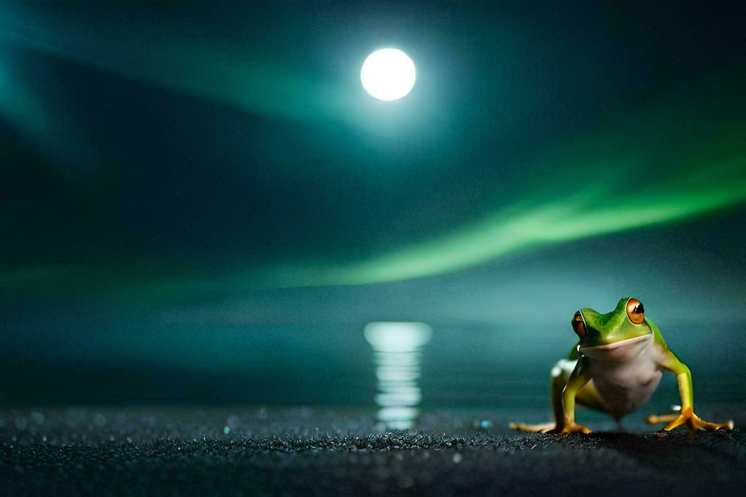
[[[606,314],[580,309],[572,317],[572,328],[580,338],[580,353],[601,361],[628,361],[653,339],[645,308],[632,297],[624,297]]]

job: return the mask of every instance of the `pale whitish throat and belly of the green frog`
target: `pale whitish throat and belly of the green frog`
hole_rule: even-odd
[[[593,351],[581,349],[581,352],[592,352],[587,355],[595,356],[590,369],[593,384],[606,411],[612,416],[622,417],[644,405],[658,386],[662,376],[659,367],[662,352],[653,340],[651,333],[625,341],[630,344],[620,342],[624,345],[607,352],[608,357],[597,347],[593,347],[596,349]],[[622,347],[627,347],[628,352],[620,361]]]

